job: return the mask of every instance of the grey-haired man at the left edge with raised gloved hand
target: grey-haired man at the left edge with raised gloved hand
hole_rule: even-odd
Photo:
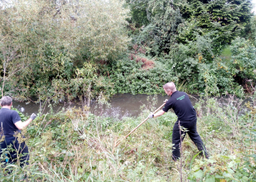
[[[33,113],[28,120],[22,122],[17,111],[11,110],[12,99],[9,96],[3,96],[0,101],[0,131],[1,139],[4,139],[0,143],[0,155],[2,154],[2,149],[6,149],[7,146],[11,145],[12,149],[7,155],[10,158],[10,163],[16,162],[17,152],[22,153],[23,156],[20,158],[20,166],[24,165],[24,162],[28,164],[29,161],[29,149],[25,142],[19,142],[18,139],[14,137],[15,132],[21,132],[22,128],[25,128],[29,123],[35,119],[36,115]]]

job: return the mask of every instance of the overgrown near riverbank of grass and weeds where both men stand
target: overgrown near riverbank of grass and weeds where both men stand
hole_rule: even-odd
[[[199,100],[195,105],[197,130],[211,157],[196,156],[198,150],[186,136],[182,161],[178,162],[171,159],[172,127],[177,119],[172,112],[148,119],[114,150],[116,138],[123,138],[155,108],[144,109],[137,118],[121,120],[75,108],[43,115],[25,132],[30,165],[20,169],[16,164],[1,163],[0,181],[20,181],[24,174],[31,181],[54,182],[181,181],[180,174],[182,181],[255,181],[253,104],[251,113],[241,115],[241,102],[234,102],[233,97],[226,104],[214,98]],[[9,169],[11,174],[7,174]]]

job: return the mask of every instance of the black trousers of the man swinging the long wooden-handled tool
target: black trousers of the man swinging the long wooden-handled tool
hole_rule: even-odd
[[[196,120],[193,121],[180,121],[180,126],[186,128],[188,130],[187,132],[181,131],[181,135],[184,134],[183,136],[180,136],[180,128],[178,126],[179,121],[174,124],[173,126],[173,159],[176,161],[178,158],[180,158],[180,146],[181,146],[181,141],[183,141],[186,133],[188,133],[188,136],[191,138],[191,140],[195,143],[197,146],[197,149],[199,151],[204,151],[204,155],[208,155],[206,151],[206,147],[203,144],[203,141],[196,131]],[[203,152],[201,152],[203,154]]]

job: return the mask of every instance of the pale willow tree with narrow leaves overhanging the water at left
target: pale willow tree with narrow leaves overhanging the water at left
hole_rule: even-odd
[[[76,97],[81,88],[74,83],[75,70],[88,62],[111,62],[129,41],[123,28],[129,10],[120,0],[12,3],[0,10],[0,79],[9,76],[5,94],[20,99]],[[11,67],[3,69],[7,50],[15,54],[11,76]]]

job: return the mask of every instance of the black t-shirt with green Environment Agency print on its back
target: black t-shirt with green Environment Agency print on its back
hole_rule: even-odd
[[[192,106],[185,92],[178,90],[173,92],[171,98],[166,102],[162,110],[167,112],[171,108],[173,108],[180,121],[192,121],[196,119],[195,108]]]

